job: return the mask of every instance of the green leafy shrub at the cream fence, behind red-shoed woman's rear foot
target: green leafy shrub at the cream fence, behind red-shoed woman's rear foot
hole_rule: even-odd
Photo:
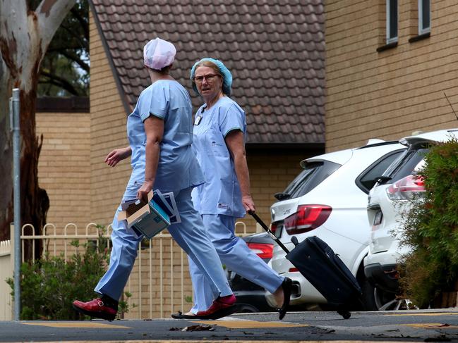
[[[73,247],[79,242],[73,241]],[[76,320],[84,316],[72,308],[75,299],[89,300],[94,297],[94,286],[104,275],[109,262],[107,239],[100,237],[98,244],[88,242],[68,261],[63,255],[45,256],[42,260],[23,263],[20,268],[21,320]],[[6,280],[14,289],[13,279]],[[14,297],[14,292],[11,292]],[[126,294],[130,297],[131,294]],[[120,301],[119,309],[128,311],[126,301]]]

